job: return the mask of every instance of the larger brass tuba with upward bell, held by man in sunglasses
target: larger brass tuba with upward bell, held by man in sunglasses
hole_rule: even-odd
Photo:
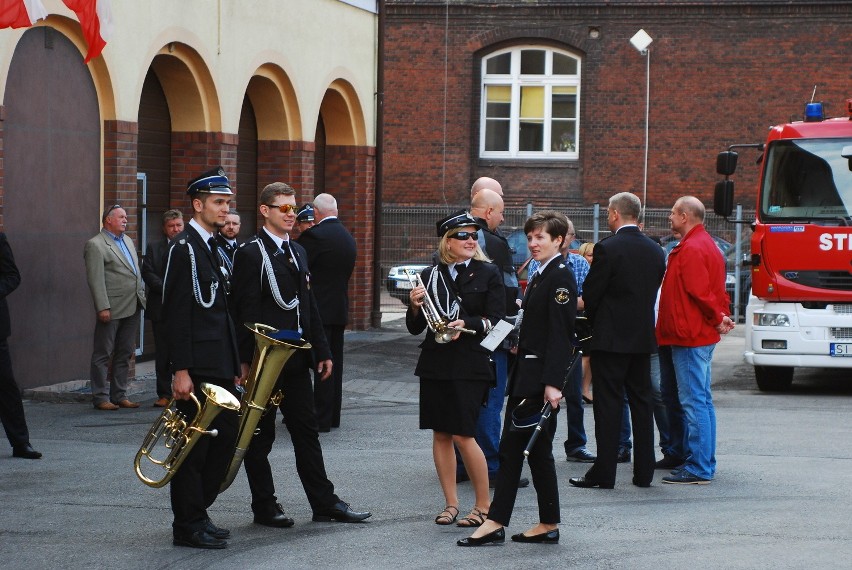
[[[299,344],[291,344],[274,337],[278,329],[260,323],[245,323],[245,327],[254,333],[255,349],[251,361],[251,370],[246,380],[245,393],[240,403],[240,427],[237,431],[237,447],[234,457],[228,466],[228,473],[222,486],[221,493],[231,486],[243,463],[248,451],[251,438],[254,436],[257,423],[266,412],[270,402],[277,405],[281,401],[281,392],[273,396],[272,391],[278,383],[281,370],[293,354],[299,349],[309,349],[309,342],[300,340]]]

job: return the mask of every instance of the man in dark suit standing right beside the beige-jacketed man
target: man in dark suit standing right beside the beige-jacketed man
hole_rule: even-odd
[[[157,373],[157,401],[154,406],[164,408],[172,397],[172,373],[166,349],[166,328],[162,318],[163,276],[166,274],[166,255],[172,240],[183,231],[183,214],[180,210],[163,213],[163,239],[148,244],[142,260],[142,280],[148,286],[145,318],[151,321],[154,331],[154,370]]]

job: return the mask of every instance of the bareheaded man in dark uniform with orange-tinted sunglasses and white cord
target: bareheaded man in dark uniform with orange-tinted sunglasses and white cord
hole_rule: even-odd
[[[318,377],[325,380],[331,375],[332,361],[312,292],[307,254],[289,239],[296,222],[294,190],[283,182],[268,185],[260,195],[260,213],[263,227],[254,240],[237,250],[234,258],[234,317],[237,322],[263,323],[293,331],[311,343],[313,354],[296,350],[278,379],[278,387],[284,393],[279,407],[293,441],[296,471],[311,504],[313,520],[359,522],[371,513],[352,510],[334,493],[319,442],[310,369],[316,363]],[[245,327],[239,334],[244,381],[255,343]],[[274,407],[267,410],[257,427],[244,459],[254,522],[279,528],[293,526],[293,519],[284,513],[275,497],[269,465],[268,456],[275,441]]]

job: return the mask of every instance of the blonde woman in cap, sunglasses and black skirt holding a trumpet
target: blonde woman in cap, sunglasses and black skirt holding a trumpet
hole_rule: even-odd
[[[494,381],[491,353],[480,341],[505,315],[503,279],[477,243],[479,227],[467,212],[438,221],[439,263],[417,278],[409,294],[405,324],[411,334],[427,327],[414,374],[420,377],[420,429],[431,429],[432,455],[444,492],[435,523],[459,515],[456,455],[467,467],[475,504],[458,526],[481,525],[488,516],[488,467],[476,443],[479,410]]]

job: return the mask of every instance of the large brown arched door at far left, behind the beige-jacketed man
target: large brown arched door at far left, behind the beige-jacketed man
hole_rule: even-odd
[[[9,298],[15,374],[22,387],[88,378],[83,246],[100,228],[101,120],[80,51],[53,28],[27,30],[3,104],[3,226],[22,278]]]

